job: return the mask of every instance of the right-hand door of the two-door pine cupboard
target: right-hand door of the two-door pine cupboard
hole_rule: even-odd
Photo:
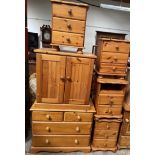
[[[93,73],[93,59],[67,57],[65,103],[88,104]]]

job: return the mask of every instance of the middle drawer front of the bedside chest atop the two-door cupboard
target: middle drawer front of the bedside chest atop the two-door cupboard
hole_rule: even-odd
[[[53,22],[52,30],[81,33],[81,34],[84,34],[85,32],[85,21],[53,17],[52,22]]]

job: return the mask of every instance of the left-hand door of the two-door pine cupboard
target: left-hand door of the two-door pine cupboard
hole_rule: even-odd
[[[65,56],[37,54],[37,102],[63,102],[65,60]]]

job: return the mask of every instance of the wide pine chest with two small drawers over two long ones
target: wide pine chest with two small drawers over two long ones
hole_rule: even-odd
[[[90,105],[34,103],[31,152],[90,151],[95,112]]]

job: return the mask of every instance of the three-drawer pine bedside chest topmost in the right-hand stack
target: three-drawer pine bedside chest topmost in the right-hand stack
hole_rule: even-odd
[[[130,42],[118,39],[99,39],[96,70],[101,75],[127,75]]]

